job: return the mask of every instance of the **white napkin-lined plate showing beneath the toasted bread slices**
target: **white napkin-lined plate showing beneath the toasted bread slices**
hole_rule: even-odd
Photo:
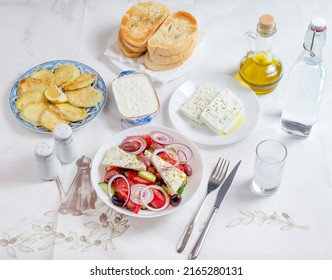
[[[121,71],[134,69],[136,71],[148,74],[153,80],[161,82],[163,84],[181,77],[191,69],[195,59],[199,55],[199,52],[204,42],[204,34],[202,32],[199,32],[197,45],[194,53],[181,66],[167,71],[152,71],[144,67],[144,55],[138,58],[126,57],[118,46],[117,38],[118,29],[114,31],[111,35],[107,44],[107,49],[104,52],[104,54],[110,59],[110,61]]]

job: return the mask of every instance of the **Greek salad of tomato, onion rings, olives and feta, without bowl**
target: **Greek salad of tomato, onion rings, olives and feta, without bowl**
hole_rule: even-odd
[[[192,157],[187,145],[174,142],[164,132],[130,135],[107,151],[99,186],[114,205],[136,214],[177,207],[193,173]]]

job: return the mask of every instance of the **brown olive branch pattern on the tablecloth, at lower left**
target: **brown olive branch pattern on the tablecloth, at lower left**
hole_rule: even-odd
[[[55,213],[58,212],[48,211],[44,216],[54,217]],[[82,232],[57,232],[52,222],[46,225],[33,224],[29,233],[20,233],[14,237],[7,232],[0,234],[0,249],[3,248],[11,259],[16,259],[19,253],[32,253],[52,246],[66,246],[81,252],[88,252],[93,247],[107,251],[109,248],[116,249],[113,240],[130,227],[125,215],[115,212],[103,202],[96,204],[96,209],[82,211],[82,215],[86,217],[82,223]]]

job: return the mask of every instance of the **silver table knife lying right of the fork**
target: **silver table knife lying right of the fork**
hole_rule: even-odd
[[[216,216],[217,212],[218,212],[218,209],[221,205],[221,202],[223,201],[225,195],[227,194],[228,190],[229,190],[229,187],[231,186],[232,182],[233,182],[233,179],[235,177],[235,174],[240,166],[240,163],[241,161],[239,161],[236,166],[233,168],[232,172],[227,176],[225,182],[221,185],[219,191],[218,191],[218,195],[217,195],[217,198],[216,198],[216,201],[214,203],[214,207],[212,208],[212,211],[210,213],[210,216],[209,218],[207,219],[207,222],[203,228],[203,231],[201,232],[201,234],[199,235],[198,239],[197,239],[197,242],[193,248],[193,250],[191,251],[190,255],[189,255],[189,258],[190,259],[196,259],[201,248],[202,248],[202,245],[204,243],[204,240],[207,236],[207,233],[210,229],[210,226],[212,224],[212,221],[214,219],[214,217]]]

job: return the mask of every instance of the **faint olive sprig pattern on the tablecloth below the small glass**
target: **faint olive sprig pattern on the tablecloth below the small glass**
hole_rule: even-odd
[[[265,224],[277,225],[280,227],[281,231],[287,231],[294,228],[307,230],[309,228],[308,226],[296,225],[293,219],[287,213],[282,213],[280,217],[277,212],[273,212],[270,215],[264,213],[263,211],[258,211],[258,210],[252,212],[240,209],[239,212],[242,215],[242,217],[235,218],[232,221],[230,221],[226,225],[227,228],[233,228],[239,225],[249,225],[257,220],[258,224],[261,226]]]

